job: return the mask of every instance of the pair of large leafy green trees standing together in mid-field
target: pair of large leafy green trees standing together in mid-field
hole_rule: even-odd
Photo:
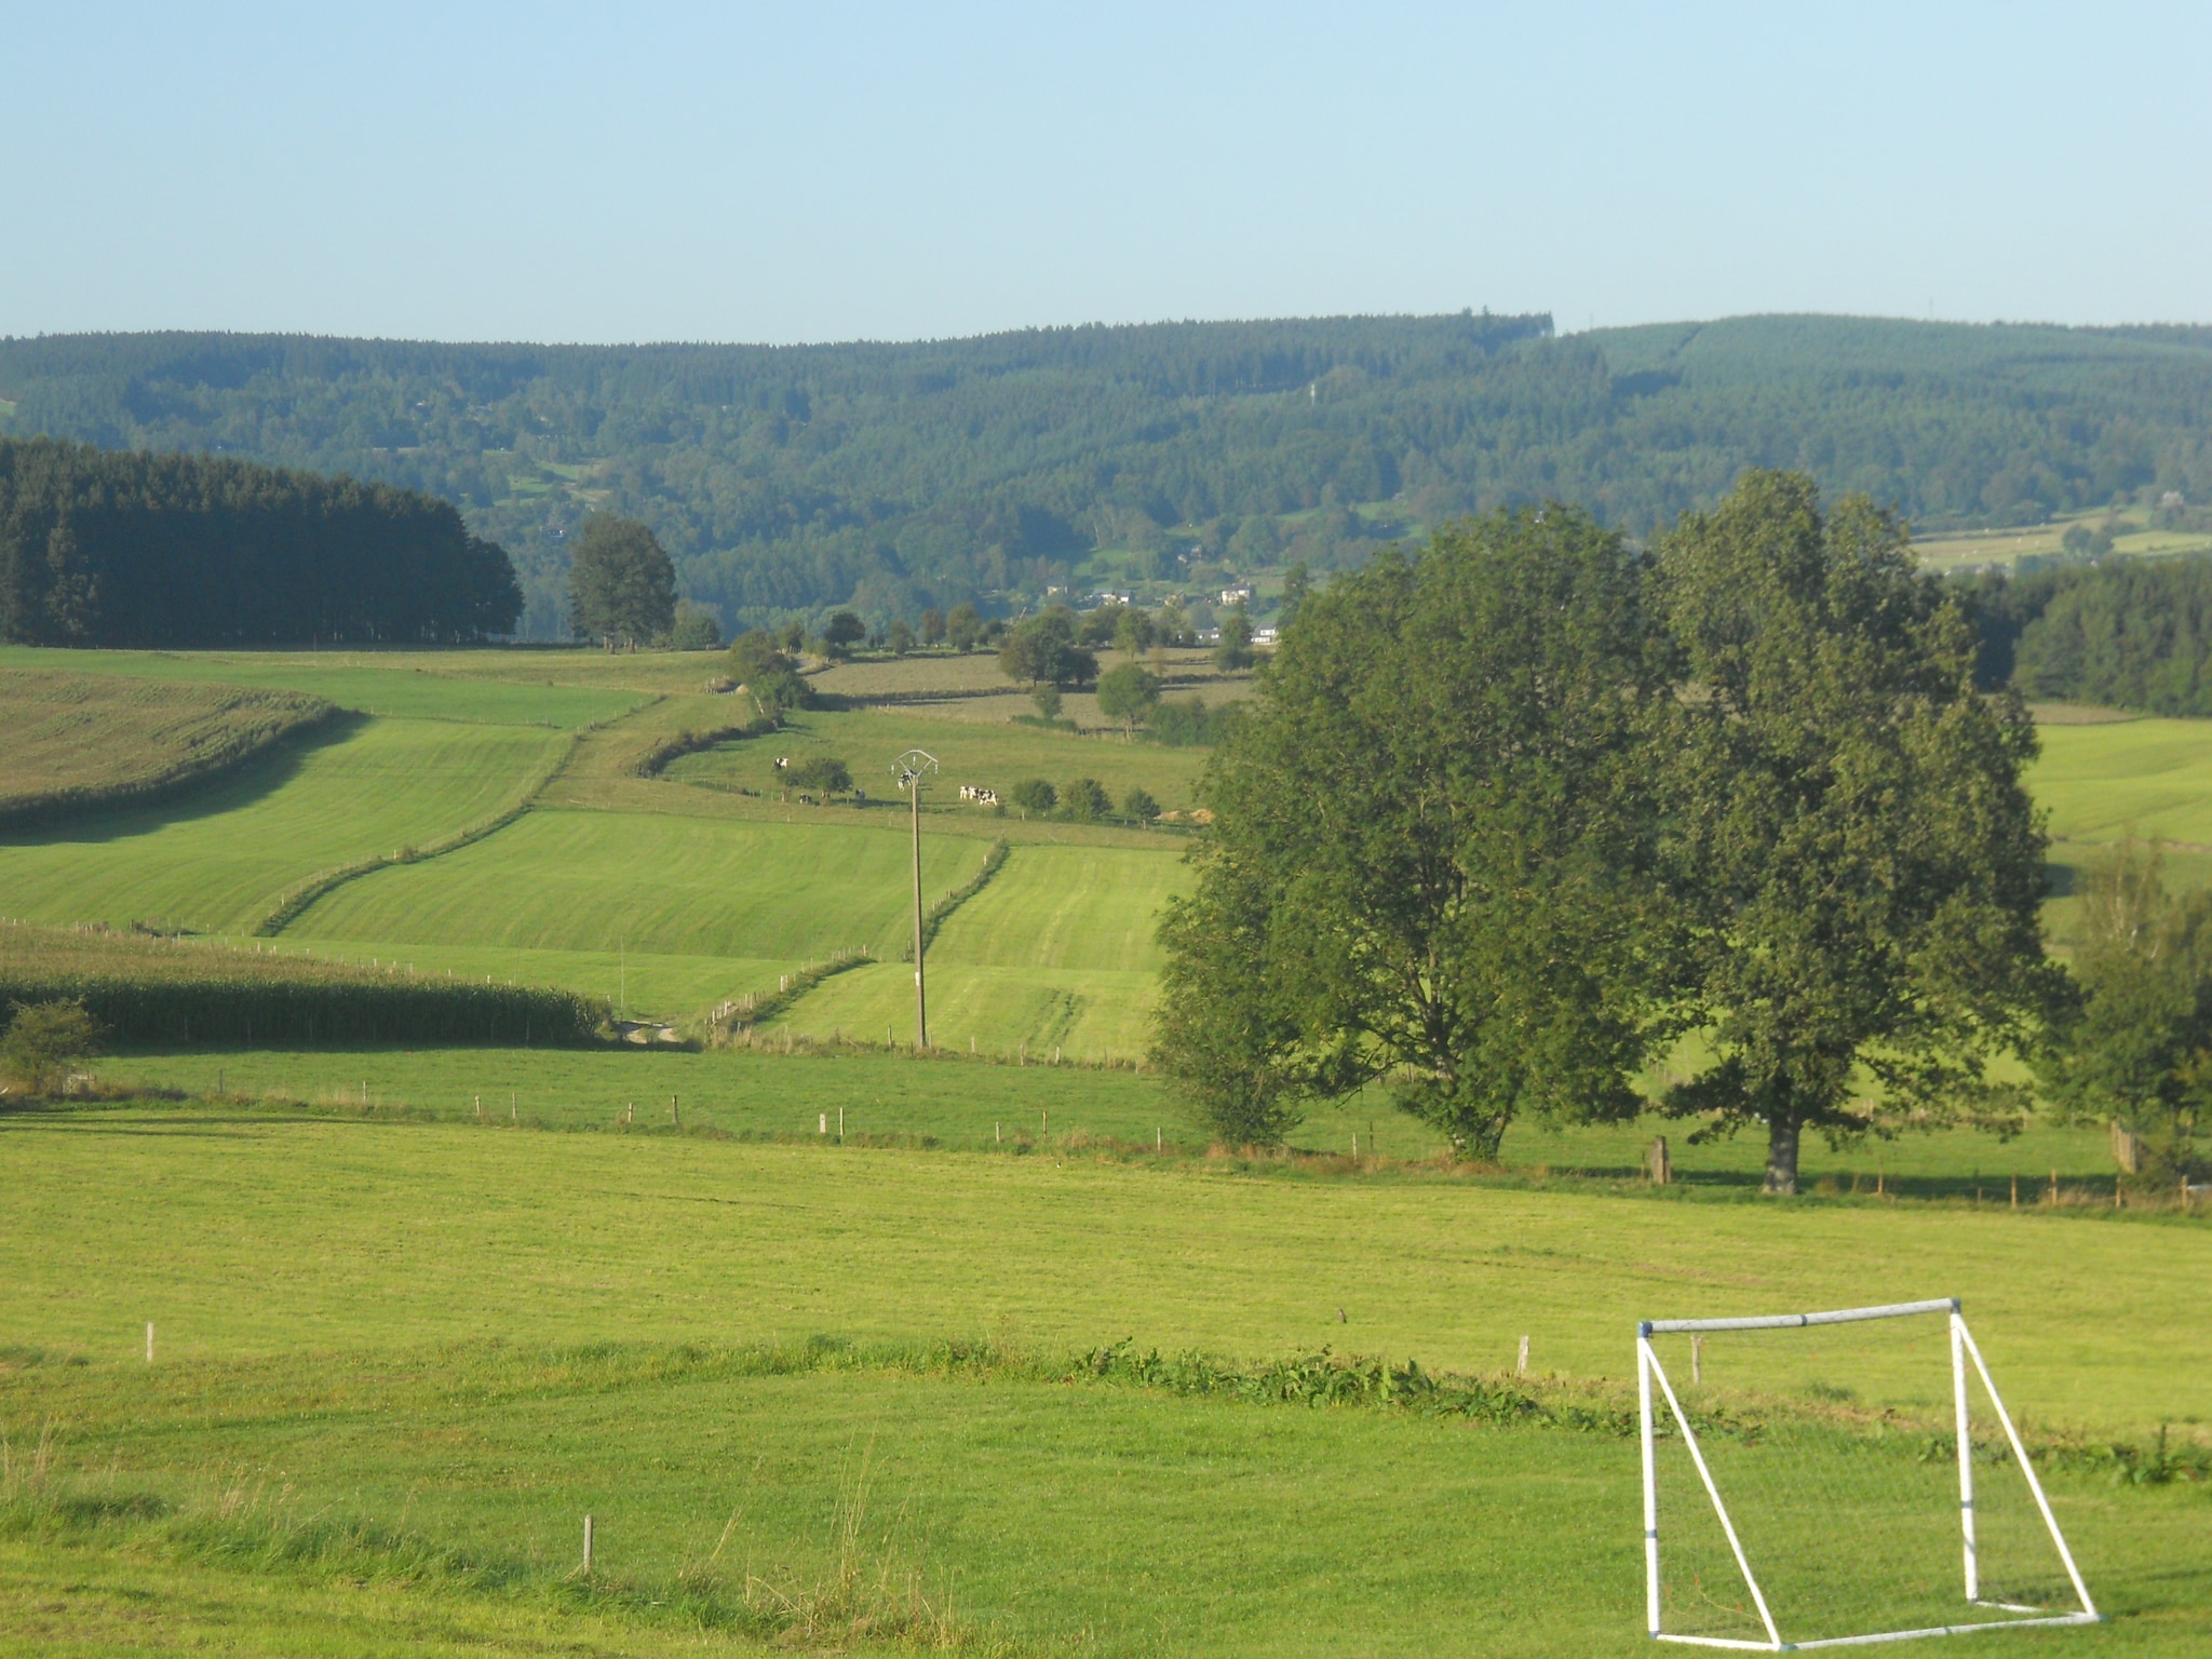
[[[1652,555],[1500,511],[1307,597],[1206,781],[1159,1060],[1279,1139],[1385,1086],[1469,1157],[1520,1115],[2004,1121],[2044,960],[2035,732],[1896,518],[1750,473]]]

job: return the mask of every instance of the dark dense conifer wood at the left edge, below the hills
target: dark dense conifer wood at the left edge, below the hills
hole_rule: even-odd
[[[414,489],[0,438],[0,639],[434,644],[520,608],[507,553]]]

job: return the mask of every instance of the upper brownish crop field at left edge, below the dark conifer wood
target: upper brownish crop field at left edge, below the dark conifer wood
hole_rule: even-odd
[[[332,712],[296,692],[0,670],[0,823],[166,792]]]

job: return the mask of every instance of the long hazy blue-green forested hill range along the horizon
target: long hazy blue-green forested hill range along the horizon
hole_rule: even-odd
[[[210,449],[449,498],[560,626],[564,540],[644,518],[726,624],[1250,573],[1562,495],[1650,531],[1745,465],[1918,524],[2212,500],[2212,332],[1754,316],[1068,327],[914,345],[0,341],[0,431]]]

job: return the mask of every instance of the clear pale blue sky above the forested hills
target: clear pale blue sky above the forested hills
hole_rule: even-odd
[[[0,0],[0,334],[2212,319],[2212,7]]]

